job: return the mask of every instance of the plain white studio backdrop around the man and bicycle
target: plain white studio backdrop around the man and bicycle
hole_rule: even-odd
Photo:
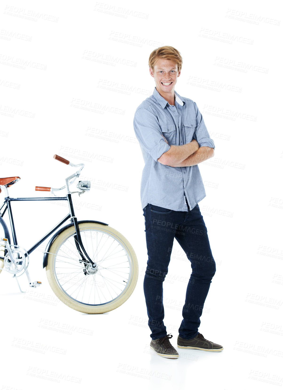
[[[73,170],[53,160],[55,153],[84,161],[81,177],[93,188],[76,200],[77,216],[107,222],[126,236],[139,279],[121,307],[85,315],[52,293],[42,269],[44,246],[29,266],[41,287],[29,289],[22,277],[27,292],[21,294],[2,272],[0,389],[281,386],[279,1],[14,0],[1,10],[0,176],[21,177],[10,196],[37,196],[35,185],[64,185]],[[197,103],[215,142],[215,156],[199,165],[206,190],[199,206],[217,264],[199,331],[224,350],[179,350],[177,360],[149,349],[144,163],[132,125],[155,86],[148,57],[163,45],[180,51],[176,91]],[[25,248],[66,215],[58,204],[13,207]],[[175,243],[164,282],[164,321],[175,347],[190,272]]]

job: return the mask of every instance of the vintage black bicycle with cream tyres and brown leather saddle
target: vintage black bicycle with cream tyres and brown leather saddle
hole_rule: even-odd
[[[52,236],[43,252],[43,268],[46,268],[48,283],[53,293],[65,305],[79,312],[88,314],[109,312],[122,305],[133,293],[138,277],[137,257],[128,240],[107,223],[77,220],[71,195],[78,193],[80,196],[89,191],[91,183],[79,181],[78,191],[72,192],[69,186],[80,176],[84,164],[72,164],[57,154],[53,158],[76,167],[77,171],[65,179],[66,184],[61,188],[36,186],[36,191],[50,191],[52,197],[10,198],[8,187],[17,183],[20,177],[0,178],[0,192],[5,191],[4,203],[0,207],[0,273],[4,269],[12,274],[17,282],[17,278],[25,273],[30,287],[40,285],[41,282],[30,280],[27,269],[29,255]],[[65,197],[54,194],[55,191],[64,188],[67,190]],[[11,202],[54,199],[68,202],[68,215],[29,250],[25,250],[18,245]],[[6,211],[9,214],[12,242],[3,219]],[[70,223],[64,225],[67,220]],[[19,282],[18,286],[23,292]]]

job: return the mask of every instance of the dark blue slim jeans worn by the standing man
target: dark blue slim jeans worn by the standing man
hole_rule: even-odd
[[[163,322],[162,284],[168,272],[175,238],[192,268],[179,335],[183,339],[192,339],[198,334],[203,305],[216,271],[203,216],[198,204],[192,210],[188,207],[188,211],[174,211],[148,204],[143,211],[148,250],[143,287],[150,337],[155,340],[167,335]]]

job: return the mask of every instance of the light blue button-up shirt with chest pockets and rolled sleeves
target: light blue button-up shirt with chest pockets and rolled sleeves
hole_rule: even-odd
[[[155,87],[135,111],[133,128],[145,163],[141,178],[142,208],[151,203],[188,211],[187,198],[190,210],[193,209],[206,196],[198,165],[170,167],[157,160],[170,145],[188,144],[192,139],[197,140],[199,147],[215,147],[196,103],[175,91],[175,105],[171,106]]]

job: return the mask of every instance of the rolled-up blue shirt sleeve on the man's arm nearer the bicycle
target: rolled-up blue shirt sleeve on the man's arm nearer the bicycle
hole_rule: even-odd
[[[148,152],[155,161],[163,153],[169,151],[170,146],[162,137],[159,122],[154,113],[146,108],[138,108],[133,119],[133,128],[142,149]]]

